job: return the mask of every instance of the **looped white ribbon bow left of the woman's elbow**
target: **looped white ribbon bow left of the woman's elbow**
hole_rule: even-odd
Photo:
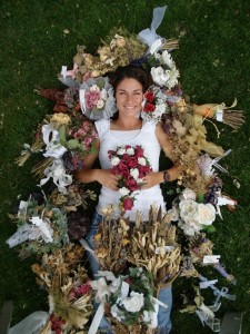
[[[46,177],[40,180],[39,187],[52,178],[60,193],[68,193],[66,187],[72,184],[72,176],[66,174],[66,168],[60,159],[54,159],[53,164],[44,169],[44,175]]]

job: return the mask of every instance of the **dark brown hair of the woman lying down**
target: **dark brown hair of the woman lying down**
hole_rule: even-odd
[[[132,78],[142,85],[142,91],[152,85],[152,77],[149,72],[146,72],[142,68],[133,67],[131,65],[118,67],[116,71],[109,73],[109,82],[113,86],[114,95],[118,85],[126,78]]]

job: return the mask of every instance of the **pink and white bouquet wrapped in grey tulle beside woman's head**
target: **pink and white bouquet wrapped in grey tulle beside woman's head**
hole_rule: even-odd
[[[109,119],[117,111],[113,88],[107,77],[89,78],[81,84],[79,94],[82,112],[92,120]]]

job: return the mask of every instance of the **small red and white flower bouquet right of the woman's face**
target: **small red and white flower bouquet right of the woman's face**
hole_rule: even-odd
[[[154,120],[158,122],[161,116],[169,110],[166,99],[167,96],[161,92],[160,87],[150,86],[143,96],[141,117],[144,120]]]

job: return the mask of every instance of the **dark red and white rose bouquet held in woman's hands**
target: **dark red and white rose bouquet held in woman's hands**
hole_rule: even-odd
[[[149,160],[140,145],[119,146],[117,150],[109,150],[112,173],[118,176],[118,187],[121,195],[119,207],[131,210],[136,196],[140,193],[144,176],[151,171]]]

